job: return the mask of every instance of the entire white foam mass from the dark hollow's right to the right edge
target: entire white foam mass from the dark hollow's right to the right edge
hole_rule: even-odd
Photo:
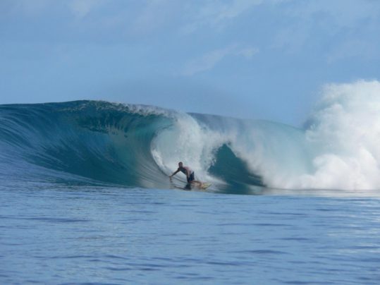
[[[236,141],[235,152],[274,188],[380,188],[378,81],[326,85],[309,121],[302,135],[256,128],[251,145]]]

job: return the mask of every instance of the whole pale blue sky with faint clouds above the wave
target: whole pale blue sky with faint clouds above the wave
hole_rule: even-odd
[[[0,104],[111,102],[300,126],[379,79],[377,0],[1,0]]]

